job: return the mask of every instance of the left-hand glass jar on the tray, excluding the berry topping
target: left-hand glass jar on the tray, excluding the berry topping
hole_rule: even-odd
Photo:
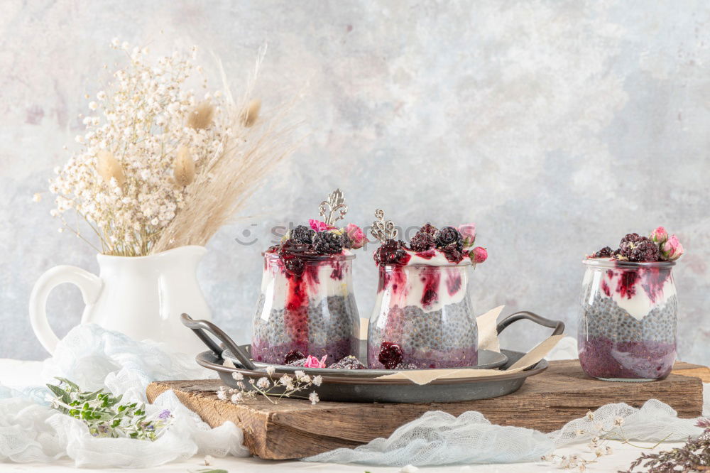
[[[285,264],[264,253],[261,296],[253,319],[251,357],[284,364],[288,352],[334,363],[357,354],[360,317],[352,286],[352,254],[300,256]]]

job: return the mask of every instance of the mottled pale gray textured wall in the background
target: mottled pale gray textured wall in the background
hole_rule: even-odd
[[[84,92],[120,36],[197,44],[242,77],[269,50],[266,107],[306,85],[307,139],[209,244],[200,281],[217,322],[248,339],[268,227],[315,217],[341,187],[351,220],[376,207],[402,224],[475,221],[490,260],[479,310],[506,304],[577,325],[581,258],[665,224],[684,359],[710,363],[707,148],[710,5],[704,1],[3,1],[0,15],[0,357],[45,356],[27,302],[38,276],[91,249],[57,232],[45,190],[80,131]],[[160,30],[164,34],[160,34]],[[202,54],[209,62],[209,55]],[[310,212],[306,212],[310,210]],[[252,224],[256,224],[252,226]],[[245,229],[261,241],[241,246]],[[371,251],[371,250],[370,250]],[[376,271],[356,261],[368,315]],[[53,326],[80,317],[78,290],[50,297]],[[508,346],[541,337],[520,330]]]

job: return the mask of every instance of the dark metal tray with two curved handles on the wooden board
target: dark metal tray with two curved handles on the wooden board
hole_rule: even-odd
[[[496,327],[498,334],[506,327],[518,320],[530,320],[544,327],[554,329],[553,335],[564,332],[564,323],[558,320],[549,320],[532,312],[516,312],[502,320]],[[265,364],[255,364],[249,358],[248,346],[237,345],[217,325],[206,320],[192,320],[189,315],[182,314],[182,323],[192,329],[197,337],[209,347],[209,351],[197,355],[197,363],[207,369],[217,371],[226,386],[236,388],[233,373],[241,373],[247,379],[258,379],[265,376]],[[207,335],[210,332],[224,344],[220,347],[217,342]],[[228,353],[225,353],[229,350]],[[511,366],[523,352],[501,350],[508,357],[508,361],[501,366],[505,369]],[[227,357],[229,355],[229,357]],[[236,366],[224,366],[224,360],[229,359]],[[236,359],[236,362],[234,362]],[[273,374],[276,379],[280,375],[295,370],[293,366],[275,365],[277,370]],[[288,370],[287,370],[288,368]],[[540,374],[547,369],[547,361],[542,359],[534,366],[516,373],[501,374],[496,376],[478,376],[452,379],[435,379],[429,384],[419,385],[408,379],[378,379],[377,376],[391,373],[390,370],[346,370],[346,369],[307,369],[309,374],[320,374],[323,378],[317,391],[321,401],[345,401],[361,403],[431,403],[471,401],[474,399],[494,398],[518,391],[528,376]],[[302,369],[306,371],[306,369]],[[354,374],[356,371],[370,371],[368,376]],[[249,386],[249,384],[247,384]],[[272,391],[278,395],[280,391]],[[291,396],[297,397],[297,396]]]

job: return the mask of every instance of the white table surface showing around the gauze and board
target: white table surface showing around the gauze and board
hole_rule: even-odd
[[[40,361],[19,361],[13,359],[0,359],[0,384],[9,387],[28,386],[38,384],[38,374],[40,373]],[[640,445],[650,445],[639,442]],[[621,445],[619,442],[609,442],[613,450],[613,455],[601,457],[596,464],[589,464],[587,472],[616,472],[619,469],[628,469],[628,466],[635,458],[637,458],[642,450],[634,447]],[[682,443],[665,443],[657,450],[667,450],[672,447],[682,445]],[[648,450],[643,450],[648,452]],[[564,449],[557,450],[557,455],[579,454],[586,458],[591,458],[591,452],[584,445],[572,445]],[[230,473],[236,472],[371,472],[371,473],[394,473],[398,472],[398,467],[371,467],[366,465],[354,464],[326,464],[326,463],[307,463],[307,462],[278,462],[273,460],[260,460],[253,458],[235,458],[224,457],[214,458],[212,468],[226,469]],[[160,467],[150,469],[135,469],[136,472],[165,472],[165,473],[187,473],[196,469],[206,468],[204,466],[204,458],[198,456],[192,457],[184,462],[173,462],[164,464]],[[109,469],[77,469],[74,467],[72,460],[63,459],[52,463],[2,463],[0,462],[0,472],[123,472],[126,469],[109,468]],[[516,464],[487,464],[487,465],[466,465],[453,467],[420,467],[420,472],[474,472],[474,473],[547,473],[547,472],[563,472],[569,471],[559,469],[554,464],[549,463],[516,463]]]

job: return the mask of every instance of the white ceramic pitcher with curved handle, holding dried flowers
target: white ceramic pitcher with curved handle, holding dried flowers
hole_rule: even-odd
[[[55,266],[39,278],[30,296],[35,335],[54,352],[59,339],[47,321],[47,297],[55,286],[72,283],[86,304],[82,324],[96,323],[136,340],[165,342],[187,354],[202,352],[204,344],[180,323],[180,314],[211,319],[196,274],[205,253],[204,246],[180,246],[150,256],[99,254],[99,276],[76,266]]]

